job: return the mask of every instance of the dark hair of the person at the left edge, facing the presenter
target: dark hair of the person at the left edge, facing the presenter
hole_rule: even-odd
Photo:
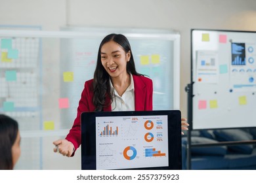
[[[18,134],[18,123],[0,114],[0,170],[12,170],[12,145]]]

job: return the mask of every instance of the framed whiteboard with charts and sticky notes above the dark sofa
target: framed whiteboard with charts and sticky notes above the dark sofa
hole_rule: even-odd
[[[256,126],[256,32],[191,30],[192,128]]]

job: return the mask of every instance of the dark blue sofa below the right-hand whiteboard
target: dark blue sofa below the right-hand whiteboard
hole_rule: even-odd
[[[215,129],[191,131],[191,143],[256,140],[256,129]],[[182,169],[187,169],[187,137],[182,136]],[[191,148],[191,169],[255,169],[256,144]]]

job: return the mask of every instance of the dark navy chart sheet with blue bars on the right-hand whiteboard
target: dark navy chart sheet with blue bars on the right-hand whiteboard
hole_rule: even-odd
[[[245,65],[245,43],[232,43],[232,65]]]

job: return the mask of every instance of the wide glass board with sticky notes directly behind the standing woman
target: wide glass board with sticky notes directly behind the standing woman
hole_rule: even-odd
[[[179,109],[179,33],[0,30],[0,113],[18,121],[22,137],[15,169],[81,169],[81,151],[66,159],[53,153],[53,141],[72,127],[84,82],[93,78],[100,41],[113,32],[127,36],[137,71],[152,78],[154,110]]]

